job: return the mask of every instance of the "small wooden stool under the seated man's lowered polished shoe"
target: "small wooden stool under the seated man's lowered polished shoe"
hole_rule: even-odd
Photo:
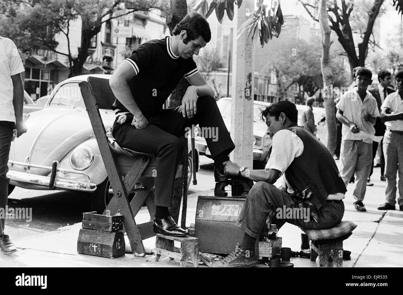
[[[174,241],[181,242],[181,247],[174,247]],[[157,234],[155,243],[155,261],[158,261],[161,255],[168,256],[171,260],[179,259],[179,266],[185,267],[189,258],[193,261],[193,265],[199,265],[197,255],[199,254],[199,239],[195,237],[170,237]]]

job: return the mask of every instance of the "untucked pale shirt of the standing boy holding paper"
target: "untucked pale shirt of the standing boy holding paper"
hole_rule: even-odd
[[[369,113],[372,118],[380,116],[378,103],[372,94],[367,90],[367,95],[364,101],[361,100],[357,92],[357,87],[343,94],[341,100],[336,107],[343,111],[343,116],[353,124],[357,125],[360,131],[371,135],[375,134],[374,125],[370,121],[364,120],[365,114]],[[361,134],[351,132],[349,126],[343,124],[341,129],[342,140],[362,140],[366,143],[372,143],[372,139],[363,137]]]

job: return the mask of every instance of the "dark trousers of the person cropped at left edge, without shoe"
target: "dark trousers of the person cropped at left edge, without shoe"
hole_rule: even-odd
[[[14,122],[0,121],[0,208],[7,213],[8,184],[10,179],[7,178],[8,172],[8,155],[10,154],[10,145]],[[0,218],[0,235],[4,231],[4,219]]]

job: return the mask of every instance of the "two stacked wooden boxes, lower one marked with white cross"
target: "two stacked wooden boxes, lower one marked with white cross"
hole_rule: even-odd
[[[83,213],[83,228],[77,240],[77,252],[107,258],[124,256],[123,216]]]

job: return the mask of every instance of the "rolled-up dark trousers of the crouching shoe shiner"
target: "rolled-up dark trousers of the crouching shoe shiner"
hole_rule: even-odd
[[[301,216],[302,214],[298,216],[299,218],[294,214],[291,218],[286,218],[289,216],[286,216],[285,212],[283,212],[283,216],[280,216],[281,218],[277,218],[277,208],[283,210],[284,206],[285,208],[298,208],[298,203],[285,191],[281,191],[264,181],[259,181],[249,191],[235,225],[251,237],[257,238],[269,214],[271,222],[277,224],[278,229],[285,222],[300,226],[303,229],[330,229],[341,222],[344,214],[343,202],[340,204],[327,202],[317,212],[319,222],[311,217],[307,221]]]

